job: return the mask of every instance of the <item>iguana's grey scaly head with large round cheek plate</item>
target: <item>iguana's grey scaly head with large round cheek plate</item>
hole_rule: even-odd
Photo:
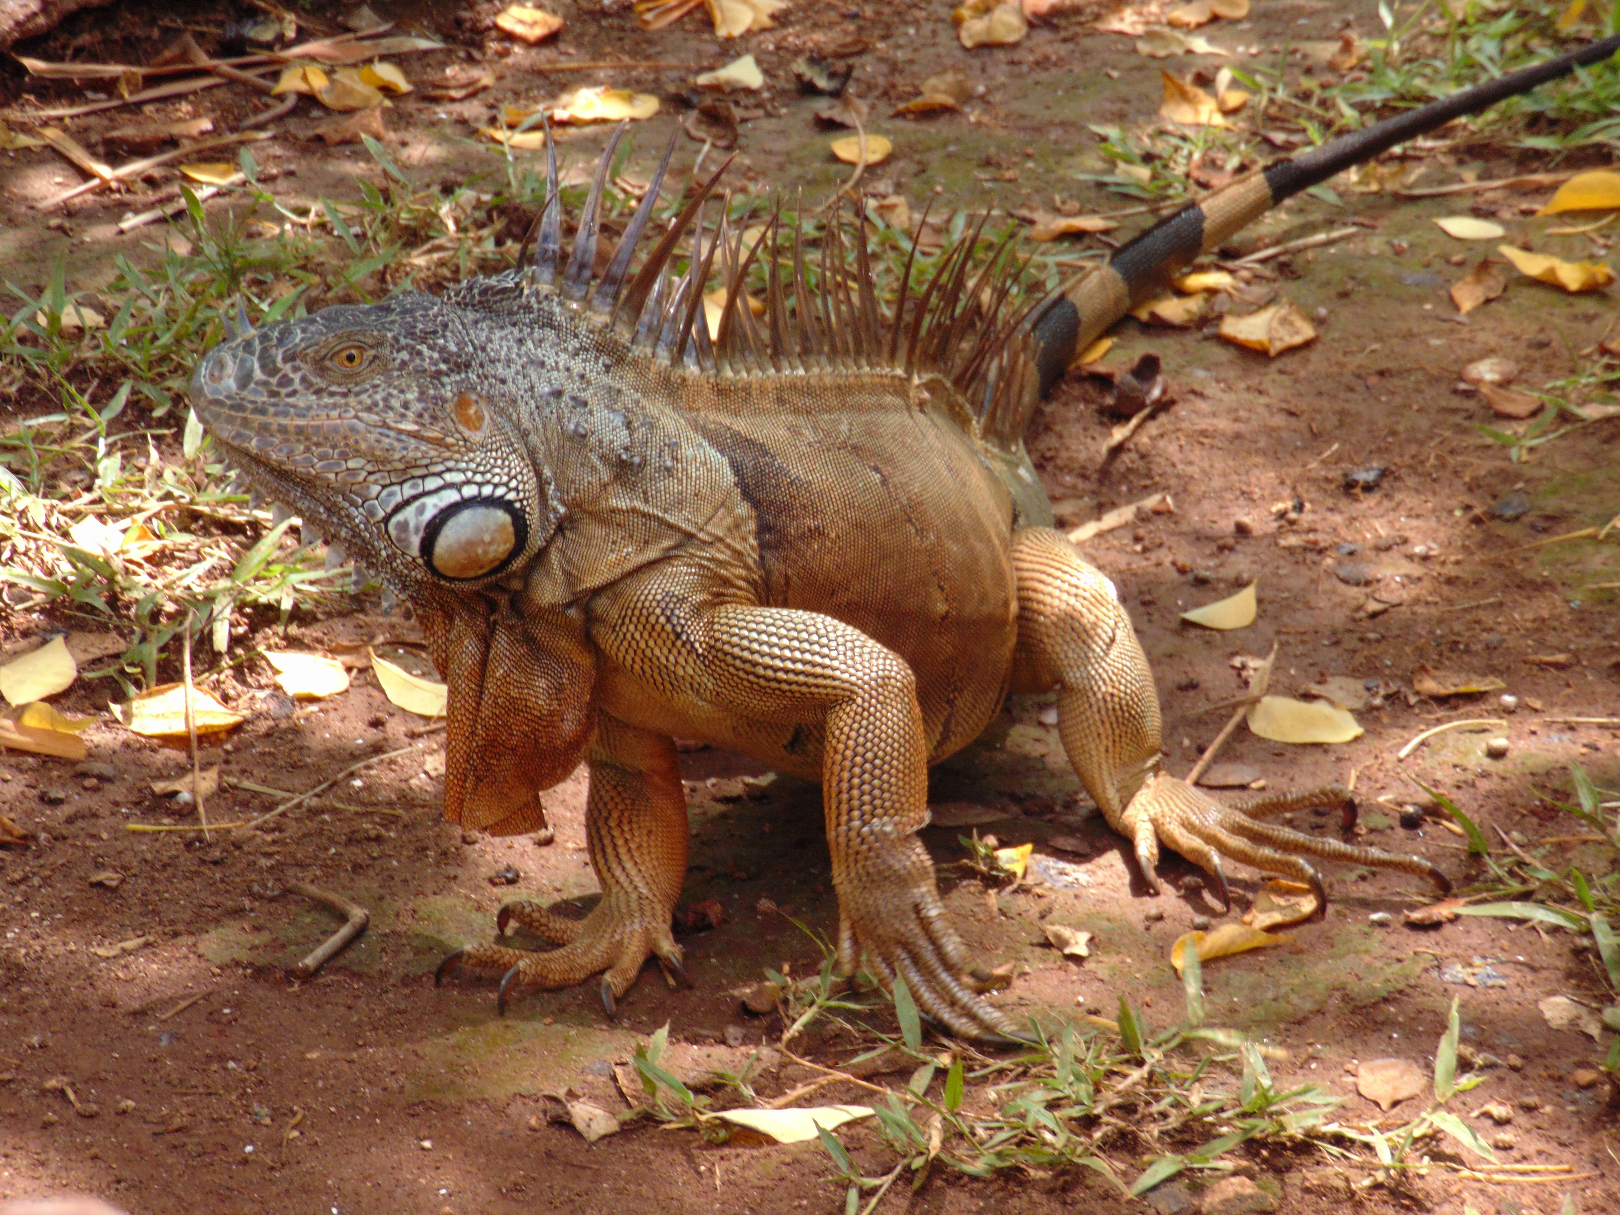
[[[397,593],[478,588],[554,520],[475,327],[418,292],[277,321],[214,347],[191,403],[258,489]]]

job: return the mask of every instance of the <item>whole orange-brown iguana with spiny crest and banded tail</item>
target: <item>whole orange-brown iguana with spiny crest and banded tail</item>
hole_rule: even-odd
[[[504,972],[502,1009],[514,985],[603,974],[612,1013],[648,956],[680,975],[672,739],[701,739],[821,782],[844,974],[865,954],[951,1030],[1017,1035],[983,998],[917,839],[928,766],[1009,690],[1056,692],[1064,750],[1149,885],[1165,844],[1221,897],[1221,857],[1319,894],[1306,855],[1448,888],[1419,857],[1264,821],[1319,805],[1353,816],[1343,791],[1223,805],[1166,771],[1131,620],[1053,530],[1021,434],[1077,350],[1270,206],[1617,49],[1592,42],[1273,164],[1030,305],[1006,245],[975,261],[974,230],[915,292],[912,245],[886,316],[860,228],[828,224],[818,274],[779,211],[752,243],[724,211],[706,235],[719,173],[632,275],[674,143],[598,274],[620,128],[565,261],[549,149],[530,264],[525,241],[517,269],[439,298],[407,290],[258,330],[238,306],[243,332],[196,368],[194,410],[306,539],[332,536],[339,561],[413,604],[449,684],[446,816],[535,829],[539,791],[590,766],[601,902],[583,922],[507,904],[502,938],[517,920],[559,948],[470,944],[446,966]],[[755,262],[758,319],[737,303]],[[716,274],[727,296],[711,340]]]

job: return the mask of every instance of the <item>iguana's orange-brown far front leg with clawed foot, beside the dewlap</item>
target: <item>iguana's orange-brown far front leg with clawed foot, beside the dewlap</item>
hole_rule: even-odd
[[[612,1013],[648,956],[680,974],[671,917],[687,875],[687,800],[674,744],[603,714],[590,750],[585,836],[603,899],[583,920],[533,902],[509,902],[497,927],[517,920],[561,948],[549,953],[470,944],[439,966],[502,970],[501,1009],[512,987],[573,987],[603,974]]]

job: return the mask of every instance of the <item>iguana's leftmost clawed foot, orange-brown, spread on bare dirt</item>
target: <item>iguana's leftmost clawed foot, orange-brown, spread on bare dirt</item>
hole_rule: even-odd
[[[501,972],[501,991],[496,1008],[505,1014],[512,988],[523,987],[573,987],[591,975],[601,974],[601,996],[608,1016],[614,1016],[617,1001],[635,983],[648,957],[674,975],[685,978],[680,966],[680,946],[669,927],[669,912],[640,901],[603,901],[583,920],[565,920],[535,902],[509,902],[501,909],[496,923],[505,935],[510,920],[517,920],[551,941],[565,943],[548,953],[514,949],[505,944],[468,944],[450,953],[434,972],[434,987],[457,966]]]

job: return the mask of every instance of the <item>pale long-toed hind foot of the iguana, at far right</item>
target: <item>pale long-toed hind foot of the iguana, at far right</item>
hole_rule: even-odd
[[[1158,860],[1158,844],[1165,842],[1213,878],[1215,893],[1228,907],[1231,896],[1221,857],[1309,885],[1317,893],[1320,907],[1327,906],[1327,889],[1320,875],[1302,855],[1413,873],[1429,878],[1442,891],[1452,889],[1452,880],[1422,857],[1403,857],[1259,821],[1270,815],[1324,805],[1341,810],[1345,826],[1354,826],[1356,804],[1338,786],[1223,805],[1186,781],[1160,773],[1131,799],[1124,821],[1131,828],[1142,873],[1155,891],[1158,885],[1153,865]]]

